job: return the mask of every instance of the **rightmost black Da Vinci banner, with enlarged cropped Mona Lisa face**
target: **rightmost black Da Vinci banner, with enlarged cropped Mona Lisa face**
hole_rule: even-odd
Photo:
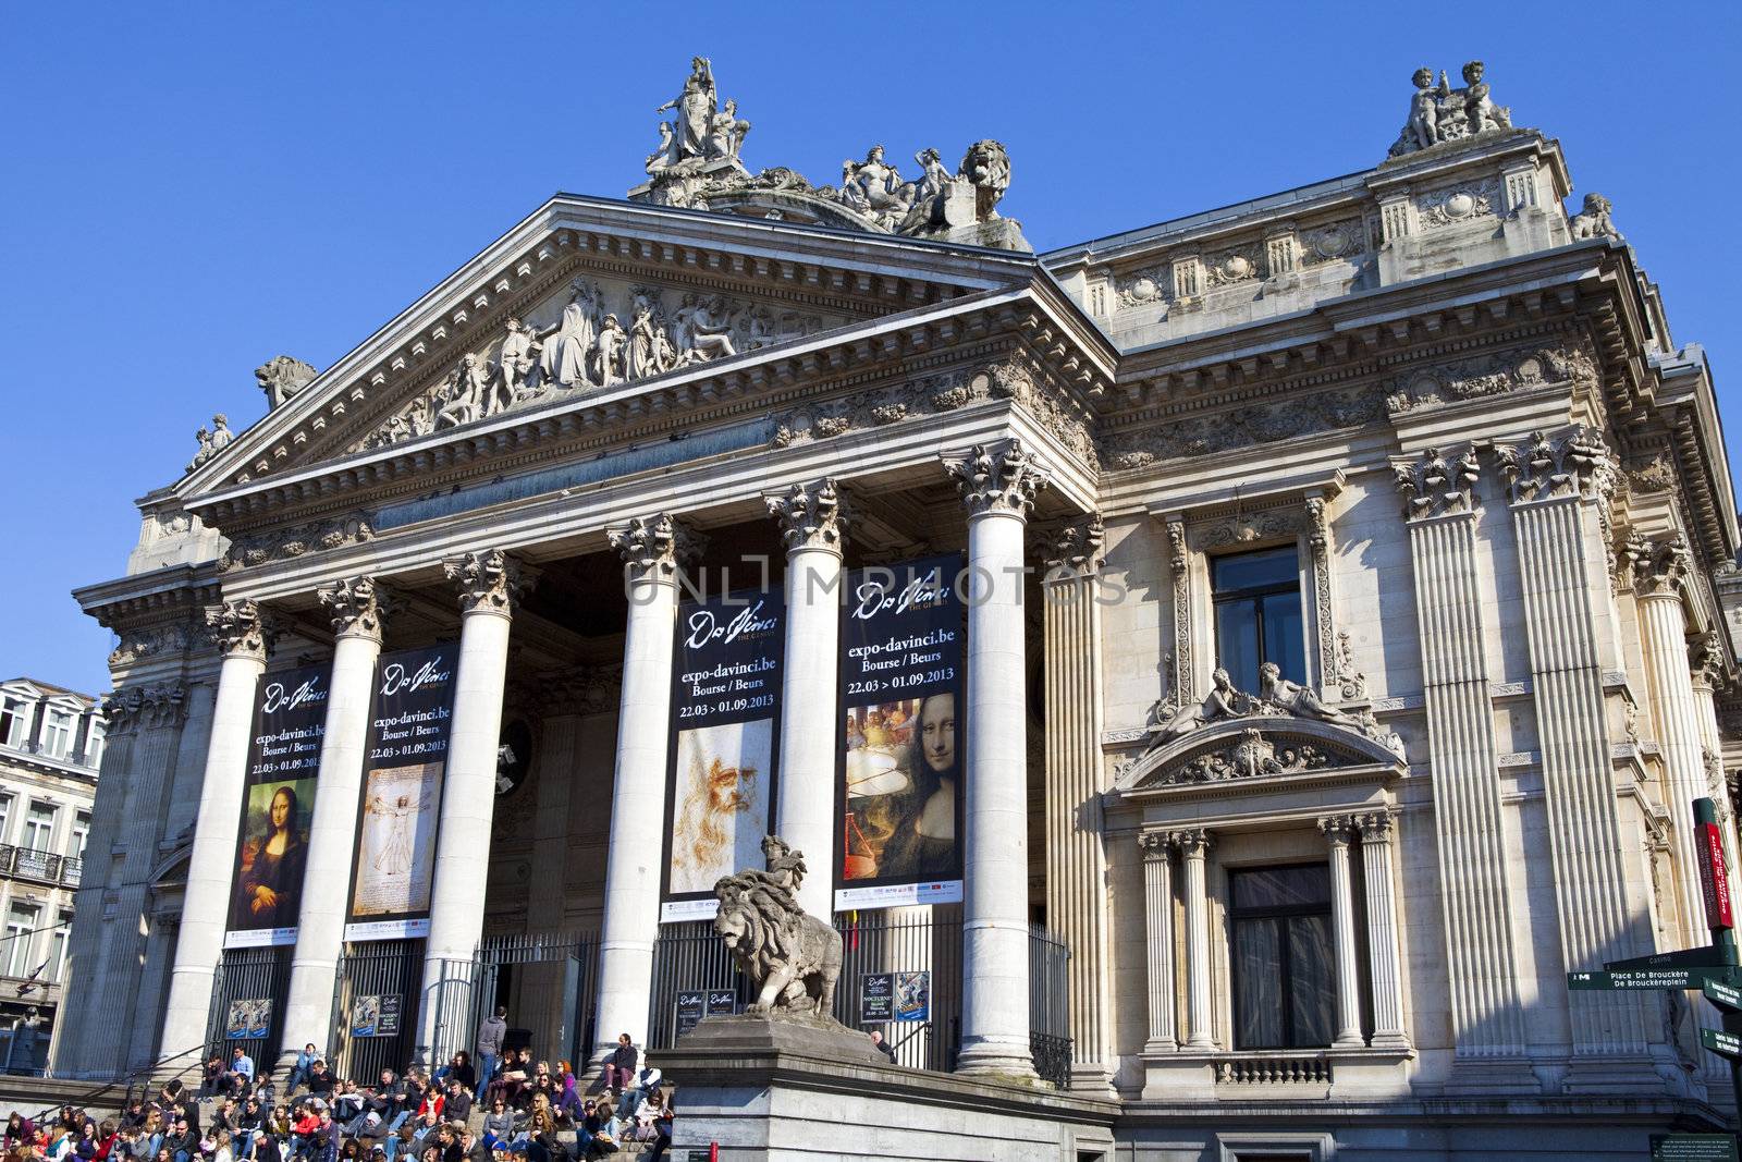
[[[962,899],[960,556],[847,575],[834,909]]]

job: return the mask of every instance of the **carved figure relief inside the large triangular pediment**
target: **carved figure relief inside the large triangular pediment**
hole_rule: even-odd
[[[697,289],[578,277],[510,315],[352,451],[388,448],[552,399],[603,392],[815,334],[847,319]]]

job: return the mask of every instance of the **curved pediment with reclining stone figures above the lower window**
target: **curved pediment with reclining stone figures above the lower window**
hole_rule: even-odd
[[[1148,749],[1115,791],[1404,763],[1402,740],[1371,713],[1326,706],[1272,662],[1258,674],[1252,695],[1218,669],[1202,702],[1158,714]]]

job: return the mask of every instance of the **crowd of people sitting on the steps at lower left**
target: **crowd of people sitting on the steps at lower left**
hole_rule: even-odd
[[[671,1148],[672,1096],[624,1033],[584,1082],[568,1061],[509,1049],[507,1010],[460,1051],[404,1075],[334,1077],[310,1044],[279,1087],[246,1051],[213,1057],[199,1091],[167,1082],[111,1120],[64,1106],[14,1113],[0,1162],[585,1162]]]

